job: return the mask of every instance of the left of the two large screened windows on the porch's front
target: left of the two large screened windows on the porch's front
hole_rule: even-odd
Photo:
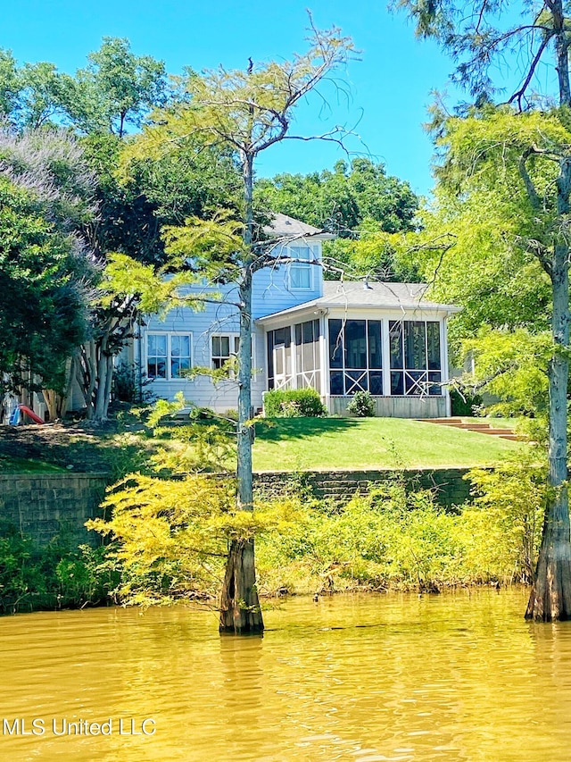
[[[383,394],[380,320],[329,320],[331,394]]]

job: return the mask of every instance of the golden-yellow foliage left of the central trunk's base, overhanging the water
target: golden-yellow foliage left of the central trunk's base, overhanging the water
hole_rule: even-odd
[[[287,532],[287,507],[236,510],[233,481],[199,474],[161,480],[131,474],[103,505],[112,519],[87,525],[113,542],[109,557],[120,565],[116,593],[130,604],[211,599],[218,593],[228,540]]]

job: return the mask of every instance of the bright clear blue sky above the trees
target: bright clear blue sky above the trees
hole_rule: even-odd
[[[126,37],[136,54],[165,61],[170,73],[223,63],[244,68],[254,60],[285,59],[304,48],[307,2],[281,0],[14,0],[3,3],[0,46],[20,63],[51,61],[61,71],[85,65],[104,35]],[[360,60],[339,71],[344,92],[329,88],[324,108],[311,98],[300,106],[297,128],[322,133],[335,124],[354,128],[348,146],[386,164],[389,174],[409,180],[426,194],[432,187],[432,145],[422,129],[434,88],[446,88],[451,62],[431,42],[419,41],[403,15],[367,0],[313,0],[316,25],[335,24],[360,49]],[[313,172],[332,167],[343,153],[332,144],[290,141],[270,148],[258,164],[261,175]]]

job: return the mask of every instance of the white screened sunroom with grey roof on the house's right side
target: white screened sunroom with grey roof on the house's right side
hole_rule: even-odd
[[[449,415],[447,321],[458,307],[426,300],[423,284],[323,285],[323,297],[257,321],[268,389],[312,387],[333,414],[369,391],[377,415]]]

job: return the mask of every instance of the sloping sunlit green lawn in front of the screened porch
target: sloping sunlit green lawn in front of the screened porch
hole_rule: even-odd
[[[254,471],[492,465],[525,444],[402,418],[279,418],[253,447]]]

